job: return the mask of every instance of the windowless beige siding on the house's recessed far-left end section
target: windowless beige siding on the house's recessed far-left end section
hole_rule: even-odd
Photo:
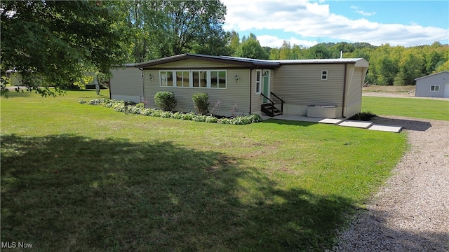
[[[141,102],[143,97],[142,71],[135,67],[112,69],[110,92],[112,99]]]

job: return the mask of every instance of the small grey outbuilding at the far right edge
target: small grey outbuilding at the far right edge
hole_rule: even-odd
[[[417,97],[449,98],[449,71],[415,78],[415,82],[415,96]]]

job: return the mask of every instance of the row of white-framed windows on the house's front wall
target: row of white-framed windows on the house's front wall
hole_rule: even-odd
[[[226,70],[160,71],[161,87],[227,88]]]

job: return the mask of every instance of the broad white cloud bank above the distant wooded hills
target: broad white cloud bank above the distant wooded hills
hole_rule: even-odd
[[[367,42],[373,45],[422,45],[447,40],[449,31],[438,27],[420,25],[382,24],[366,18],[350,19],[330,13],[329,5],[320,2],[257,0],[222,0],[227,6],[225,30],[254,32],[272,30],[272,34],[257,36],[261,45],[271,46],[287,40],[293,45],[313,45],[321,41]],[[335,3],[334,3],[335,4]],[[358,7],[351,9],[358,11]],[[360,10],[362,11],[362,10]],[[364,13],[364,12],[363,12]],[[362,13],[361,13],[362,14]],[[364,13],[365,15],[375,13]],[[362,14],[363,15],[363,14]],[[283,38],[279,32],[297,34],[297,38]],[[276,34],[276,37],[273,36]],[[293,41],[297,42],[293,42]],[[326,42],[322,41],[322,42]],[[281,46],[282,42],[277,45]]]

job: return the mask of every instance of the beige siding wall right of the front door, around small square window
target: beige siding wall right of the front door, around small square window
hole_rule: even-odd
[[[328,80],[321,80],[321,71]],[[344,64],[286,64],[274,71],[272,91],[291,105],[342,106]]]

